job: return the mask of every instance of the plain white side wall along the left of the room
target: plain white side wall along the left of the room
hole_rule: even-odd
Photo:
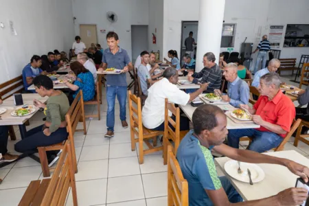
[[[13,21],[17,36],[10,33]],[[0,83],[21,75],[32,55],[60,52],[73,43],[71,0],[1,1]]]

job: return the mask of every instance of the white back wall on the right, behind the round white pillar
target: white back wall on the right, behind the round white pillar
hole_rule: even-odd
[[[180,52],[181,21],[198,21],[199,2],[200,0],[191,0],[190,3],[186,0],[164,1],[163,54],[165,56],[169,49]],[[262,35],[268,34],[269,25],[284,25],[285,33],[286,24],[309,24],[308,12],[308,0],[226,0],[224,19],[225,23],[236,23],[234,51],[238,52],[245,37],[247,42],[253,42],[256,47]],[[261,34],[258,34],[259,30]],[[308,47],[283,48],[283,43],[284,38],[281,44],[282,58],[299,60],[301,54],[309,54]],[[222,48],[221,51],[226,49]]]

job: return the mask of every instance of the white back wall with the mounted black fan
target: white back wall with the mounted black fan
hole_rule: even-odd
[[[106,19],[108,11],[117,14],[118,21],[116,23],[111,24]],[[98,43],[106,49],[106,34],[108,31],[114,30],[119,36],[119,46],[126,49],[131,60],[131,25],[148,25],[148,12],[148,0],[73,0],[76,35],[80,34],[80,24],[96,24]],[[106,33],[100,33],[100,30],[106,30]]]

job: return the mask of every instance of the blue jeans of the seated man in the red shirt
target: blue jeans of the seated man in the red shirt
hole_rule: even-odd
[[[249,144],[248,149],[260,153],[276,148],[283,140],[283,138],[276,133],[261,132],[251,128],[229,130],[227,144],[232,148],[239,148],[239,139],[245,136],[253,137],[253,141]]]

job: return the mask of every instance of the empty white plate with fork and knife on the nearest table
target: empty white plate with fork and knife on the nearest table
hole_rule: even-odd
[[[247,169],[251,172],[251,179],[253,183],[258,183],[265,178],[264,171],[256,164],[241,162],[240,169],[242,170],[242,174],[238,174],[238,161],[231,159],[225,163],[225,172],[238,181],[249,183],[249,174]]]

